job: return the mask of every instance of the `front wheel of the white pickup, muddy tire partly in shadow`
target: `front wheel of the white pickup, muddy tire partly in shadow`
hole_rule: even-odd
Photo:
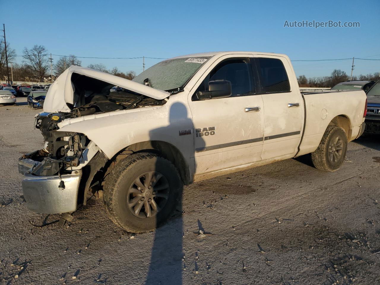
[[[155,180],[155,183],[150,184],[153,185],[153,188],[149,188],[150,190],[145,188],[144,185],[147,176],[143,175],[146,173],[151,173],[148,174],[148,176],[155,177],[152,178]],[[160,178],[157,179],[158,176],[160,176]],[[143,180],[141,180],[141,177],[144,177]],[[142,183],[144,188],[137,187],[138,184],[136,184],[136,181]],[[161,186],[157,187],[159,183],[161,183]],[[162,193],[158,192],[159,190],[155,191],[155,187],[157,189],[165,187],[165,185],[162,186],[162,183],[165,185],[168,184],[168,187],[165,188],[165,193],[163,195],[161,194],[161,196],[167,198],[153,197],[153,194],[158,195],[158,193]],[[169,215],[175,209],[180,194],[182,194],[182,187],[182,180],[180,179],[179,173],[169,160],[147,152],[131,154],[117,163],[107,177],[104,185],[103,203],[112,222],[131,233],[143,233],[154,230],[160,223],[168,219]],[[141,188],[146,191],[144,193],[138,192],[135,194],[136,190]],[[139,191],[142,192],[142,190]],[[146,201],[142,199],[142,195],[144,195]],[[135,204],[135,208],[133,208],[130,205],[133,204],[136,198],[138,198],[138,202]],[[127,201],[129,203],[127,203]],[[146,209],[149,208],[150,210],[148,212],[151,211],[151,214],[154,214],[154,207],[151,204],[153,202],[156,206],[163,206],[160,210],[156,211],[155,215],[148,217],[149,214],[146,213]],[[141,212],[136,214],[136,207],[141,203],[149,204],[144,204],[144,206],[140,207]],[[156,207],[156,209],[159,208],[160,207]],[[144,209],[144,211],[142,211],[142,209]]]

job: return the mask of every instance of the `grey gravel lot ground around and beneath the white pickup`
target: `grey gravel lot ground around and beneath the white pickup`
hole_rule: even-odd
[[[305,156],[185,187],[152,233],[124,232],[94,198],[59,230],[25,207],[17,158],[43,146],[42,110],[17,101],[0,106],[1,284],[380,284],[378,137],[350,142],[334,173]]]

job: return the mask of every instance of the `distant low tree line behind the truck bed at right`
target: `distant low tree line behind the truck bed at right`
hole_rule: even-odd
[[[369,73],[366,75],[360,74],[359,76],[352,76],[351,81],[356,80],[374,80],[380,79],[379,73]],[[333,87],[336,84],[350,80],[350,76],[340,69],[334,69],[330,76],[306,78],[300,75],[297,78],[299,87]]]

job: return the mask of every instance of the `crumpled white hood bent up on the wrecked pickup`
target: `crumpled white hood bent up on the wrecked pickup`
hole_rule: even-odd
[[[113,84],[114,86],[120,86],[157,100],[163,100],[170,95],[168,92],[154,89],[138,82],[131,81],[129,79],[114,76],[102,71],[93,70],[91,68],[71,65],[71,67],[65,70],[49,87],[44,102],[44,112],[71,111],[66,103],[72,105],[75,103],[73,85],[71,83],[71,75],[73,73],[78,73],[81,75],[89,76],[91,78],[99,79],[101,81],[109,82],[110,85]]]

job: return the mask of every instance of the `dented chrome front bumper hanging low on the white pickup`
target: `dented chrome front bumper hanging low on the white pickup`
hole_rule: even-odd
[[[22,192],[26,206],[30,211],[43,214],[61,214],[76,211],[78,205],[79,182],[82,171],[62,174],[65,188],[60,190],[60,178],[53,176],[35,176],[26,173],[22,180]]]

